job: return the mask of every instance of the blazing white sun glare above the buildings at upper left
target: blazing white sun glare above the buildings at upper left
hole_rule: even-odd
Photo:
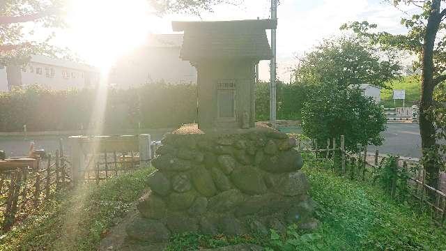
[[[105,72],[118,56],[144,43],[153,26],[150,11],[147,0],[70,0],[68,43]]]

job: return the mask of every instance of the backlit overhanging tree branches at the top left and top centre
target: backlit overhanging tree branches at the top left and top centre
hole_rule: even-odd
[[[121,0],[123,1],[123,0]],[[219,3],[236,3],[237,0],[147,0],[157,14],[193,13],[212,11]],[[68,52],[49,45],[54,34],[36,41],[33,35],[44,28],[63,27],[64,0],[0,0],[0,68],[8,65],[23,65],[32,54],[47,56]],[[25,29],[32,23],[33,29]]]

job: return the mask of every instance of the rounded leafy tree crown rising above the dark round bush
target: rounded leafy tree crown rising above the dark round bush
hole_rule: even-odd
[[[399,76],[400,70],[395,54],[380,57],[378,50],[367,46],[364,40],[341,37],[324,40],[303,56],[294,75],[296,83],[385,86],[385,82]]]

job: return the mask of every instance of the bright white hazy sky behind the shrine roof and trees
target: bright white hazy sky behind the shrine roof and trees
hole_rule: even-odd
[[[144,44],[149,33],[174,33],[171,21],[267,19],[270,0],[238,0],[239,5],[215,6],[213,13],[155,15],[147,0],[70,0],[68,29],[54,43],[68,47],[87,63],[109,68],[119,55]],[[288,82],[296,57],[309,52],[323,38],[341,34],[346,22],[367,20],[378,29],[404,33],[402,16],[416,7],[395,8],[382,0],[282,0],[278,7],[277,67],[279,79]],[[269,79],[268,61],[261,62],[260,78]]]

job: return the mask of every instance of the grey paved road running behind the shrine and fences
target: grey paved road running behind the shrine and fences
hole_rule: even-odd
[[[293,128],[293,132],[300,132],[300,128]],[[152,134],[152,139],[161,139],[162,133]],[[420,158],[421,138],[420,128],[416,123],[388,123],[384,132],[385,142],[379,147],[380,153],[392,153],[406,157]],[[26,155],[31,140],[36,144],[36,149],[56,151],[59,147],[58,139],[63,138],[67,146],[67,136],[45,137],[0,137],[0,150],[5,150],[8,156]],[[375,151],[375,146],[369,146],[369,151]],[[66,152],[70,149],[66,147]]]

